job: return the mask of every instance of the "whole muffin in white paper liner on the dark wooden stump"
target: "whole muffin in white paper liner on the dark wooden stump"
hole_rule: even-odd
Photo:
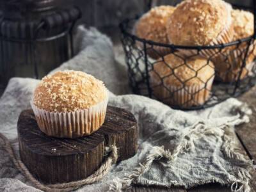
[[[78,138],[97,131],[104,123],[107,104],[104,83],[74,70],[45,76],[31,100],[40,130],[58,138]]]

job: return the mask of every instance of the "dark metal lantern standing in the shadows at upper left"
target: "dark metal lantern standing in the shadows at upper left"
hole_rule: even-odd
[[[72,28],[80,12],[56,0],[8,0],[0,20],[0,84],[45,76],[73,55]]]

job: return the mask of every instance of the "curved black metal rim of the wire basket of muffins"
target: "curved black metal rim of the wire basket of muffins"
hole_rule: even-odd
[[[230,47],[230,46],[234,46],[234,45],[239,45],[243,42],[249,42],[251,40],[255,40],[255,36],[248,36],[246,38],[241,38],[239,40],[236,41],[232,41],[232,42],[228,42],[227,44],[216,44],[216,45],[176,45],[176,44],[163,44],[163,43],[159,43],[159,42],[154,42],[152,40],[147,40],[145,38],[140,38],[134,34],[132,34],[131,32],[129,32],[128,29],[128,24],[129,22],[132,22],[132,20],[138,20],[141,16],[140,15],[136,15],[133,18],[126,18],[124,20],[122,20],[122,22],[120,22],[119,24],[119,28],[121,30],[121,33],[124,36],[129,36],[130,38],[132,38],[132,40],[136,40],[139,41],[143,44],[148,44],[148,45],[156,45],[159,47],[168,47],[171,49],[197,49],[198,51],[202,50],[202,49],[223,49],[225,47]]]

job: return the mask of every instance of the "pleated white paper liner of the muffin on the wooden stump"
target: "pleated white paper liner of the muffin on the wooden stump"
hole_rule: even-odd
[[[42,132],[57,138],[79,138],[92,134],[104,123],[108,97],[91,108],[72,112],[49,112],[30,103]]]

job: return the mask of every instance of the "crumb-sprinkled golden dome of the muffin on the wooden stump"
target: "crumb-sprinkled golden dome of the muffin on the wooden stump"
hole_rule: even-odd
[[[84,72],[65,70],[42,79],[33,103],[46,111],[70,112],[90,108],[107,97],[102,81]]]

